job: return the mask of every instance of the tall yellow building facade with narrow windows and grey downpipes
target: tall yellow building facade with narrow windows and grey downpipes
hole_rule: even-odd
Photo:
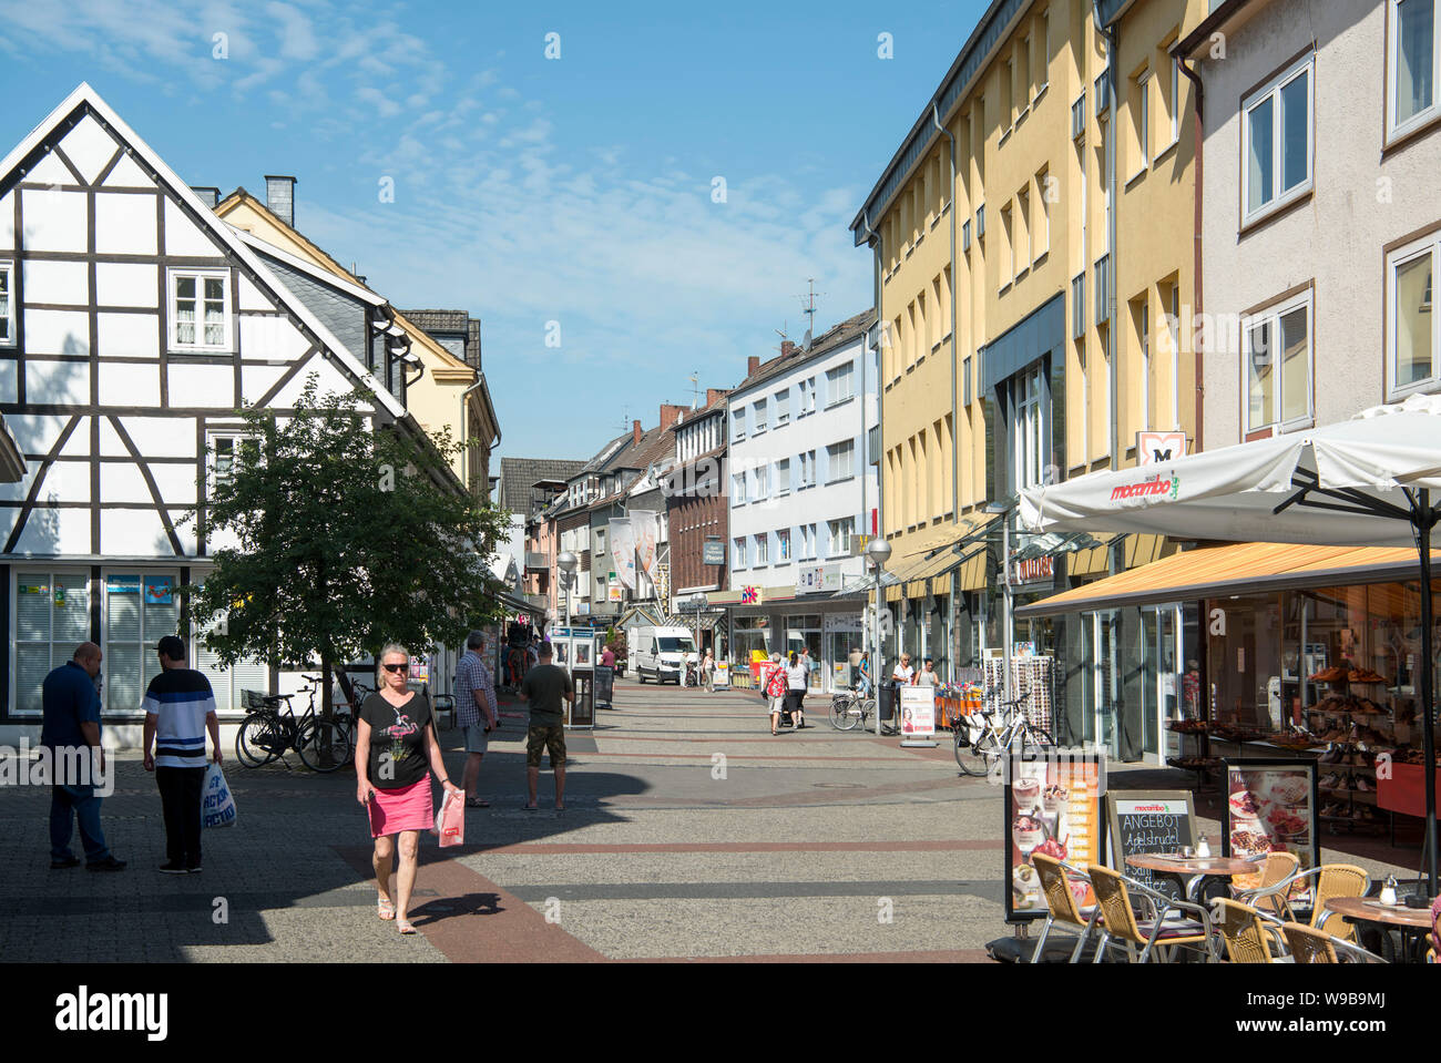
[[[994,510],[1137,464],[1138,432],[1195,439],[1193,88],[1167,49],[1205,14],[1205,0],[996,0],[852,223],[882,323],[888,661],[931,655],[954,677],[1003,645],[1003,521],[1017,606],[1174,549],[1033,543]],[[1101,689],[1098,661],[1123,635],[1085,618],[1013,631],[1055,660],[1058,739],[1159,756],[1140,726],[1131,740],[1104,719],[1124,691]]]

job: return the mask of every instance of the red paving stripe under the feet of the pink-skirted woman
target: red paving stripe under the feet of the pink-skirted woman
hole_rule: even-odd
[[[333,848],[365,880],[375,882],[372,850]],[[545,915],[486,876],[435,850],[427,851],[424,844],[415,884],[440,896],[416,897],[411,922],[452,964],[594,964],[607,959],[558,923],[548,923]],[[441,910],[447,907],[450,910]]]

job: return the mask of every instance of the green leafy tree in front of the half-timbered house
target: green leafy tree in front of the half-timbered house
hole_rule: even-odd
[[[363,398],[321,396],[311,374],[293,415],[241,411],[251,438],[202,517],[209,537],[238,544],[186,588],[187,618],[226,667],[318,660],[326,717],[337,664],[386,642],[458,645],[503,614],[484,559],[507,514],[460,490],[447,434],[372,429]]]

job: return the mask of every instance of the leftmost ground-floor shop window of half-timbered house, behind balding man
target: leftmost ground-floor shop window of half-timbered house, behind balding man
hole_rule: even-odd
[[[81,573],[14,573],[14,707],[39,713],[40,684],[91,638],[89,579]],[[110,661],[101,668],[107,670]],[[138,703],[137,703],[138,704]]]

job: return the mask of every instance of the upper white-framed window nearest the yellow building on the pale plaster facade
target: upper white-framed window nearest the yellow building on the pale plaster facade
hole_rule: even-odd
[[[1248,97],[1241,122],[1244,222],[1311,189],[1311,75],[1316,55]]]

